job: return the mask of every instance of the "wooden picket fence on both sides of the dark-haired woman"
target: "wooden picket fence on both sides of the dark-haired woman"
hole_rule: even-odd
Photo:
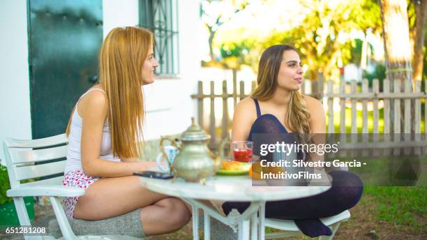
[[[228,99],[232,98],[232,103],[236,105],[238,100],[244,99],[248,96],[245,93],[245,83],[239,82],[239,89],[237,89],[237,82],[233,81],[233,87],[231,91],[227,89],[227,82],[222,82],[222,92],[215,92],[215,82],[211,81],[209,93],[204,93],[203,82],[197,83],[197,93],[191,97],[197,100],[197,121],[200,126],[204,124],[204,100],[209,100],[209,124],[205,126],[205,130],[211,135],[211,147],[215,147],[219,142],[218,138],[225,138],[228,136],[230,130],[230,117],[228,109]],[[304,80],[301,84],[301,93],[313,96],[320,99],[324,103],[324,108],[327,110],[328,118],[328,133],[336,133],[336,127],[334,123],[339,121],[338,133],[346,133],[347,129],[345,126],[345,119],[351,119],[351,130],[350,133],[358,133],[357,130],[357,106],[361,105],[361,133],[362,136],[368,138],[368,134],[373,135],[373,141],[375,144],[368,142],[368,140],[362,141],[359,145],[355,144],[359,142],[356,138],[357,135],[352,135],[351,148],[372,148],[374,146],[391,149],[391,148],[403,148],[405,146],[419,146],[424,149],[426,140],[421,137],[421,103],[424,102],[424,107],[427,103],[426,92],[421,92],[421,82],[415,84],[414,90],[411,88],[410,82],[405,82],[403,91],[401,91],[400,80],[384,80],[382,91],[380,91],[380,81],[373,80],[372,89],[368,87],[368,80],[361,81],[361,91],[358,91],[358,84],[356,81],[350,82],[350,91],[348,91],[347,83],[340,81],[340,84],[336,85],[334,81],[328,81],[326,88],[322,80],[317,82],[310,82]],[[427,84],[427,81],[426,81]],[[307,86],[306,86],[307,85]],[[427,86],[427,85],[426,85]],[[251,90],[255,88],[255,82],[251,82]],[[221,126],[215,125],[215,99],[222,99],[222,121]],[[384,128],[380,133],[380,102],[383,102],[383,121]],[[334,119],[334,103],[339,103],[339,120]],[[337,104],[336,104],[337,105]],[[368,132],[368,105],[373,107],[373,128]],[[400,112],[400,106],[403,105],[403,112]],[[351,107],[350,116],[346,116],[345,108]],[[394,107],[392,110],[391,107]],[[336,107],[337,108],[337,107]],[[232,108],[234,110],[234,108]],[[403,121],[400,119],[403,117]],[[424,121],[427,122],[427,111],[424,111]],[[403,122],[402,124],[400,124]],[[393,129],[391,129],[393,127]],[[218,133],[219,132],[219,133]],[[360,133],[360,132],[359,132]],[[404,141],[398,139],[398,137],[391,137],[391,133],[407,133]],[[412,135],[411,135],[412,133]],[[424,133],[427,133],[427,128],[424,128]],[[378,142],[378,138],[381,137],[381,141]],[[342,135],[341,137],[345,137]],[[395,138],[395,139],[394,139]],[[421,139],[422,138],[422,139]],[[345,142],[345,140],[343,140]],[[364,142],[364,143],[363,143]],[[349,145],[350,146],[350,145]],[[350,148],[350,147],[349,147]]]

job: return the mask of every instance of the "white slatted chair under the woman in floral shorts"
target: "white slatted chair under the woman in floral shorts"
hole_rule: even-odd
[[[6,167],[10,179],[8,197],[13,197],[20,225],[31,225],[24,197],[47,196],[54,209],[63,239],[137,239],[129,236],[93,236],[77,237],[66,218],[60,197],[77,197],[84,195],[84,189],[62,186],[63,173],[67,155],[68,138],[66,134],[46,137],[38,140],[15,140],[8,138],[3,142]],[[61,159],[53,162],[51,160]],[[34,163],[38,163],[35,165]],[[45,177],[46,179],[20,183],[22,180]],[[24,236],[25,239],[54,239],[51,236]]]

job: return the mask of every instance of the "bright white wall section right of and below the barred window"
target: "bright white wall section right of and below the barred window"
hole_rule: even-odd
[[[190,95],[195,92],[200,73],[199,3],[178,1],[179,66],[177,79],[156,80],[144,86],[147,118],[144,139],[153,140],[160,135],[181,133],[190,126],[195,107]]]

